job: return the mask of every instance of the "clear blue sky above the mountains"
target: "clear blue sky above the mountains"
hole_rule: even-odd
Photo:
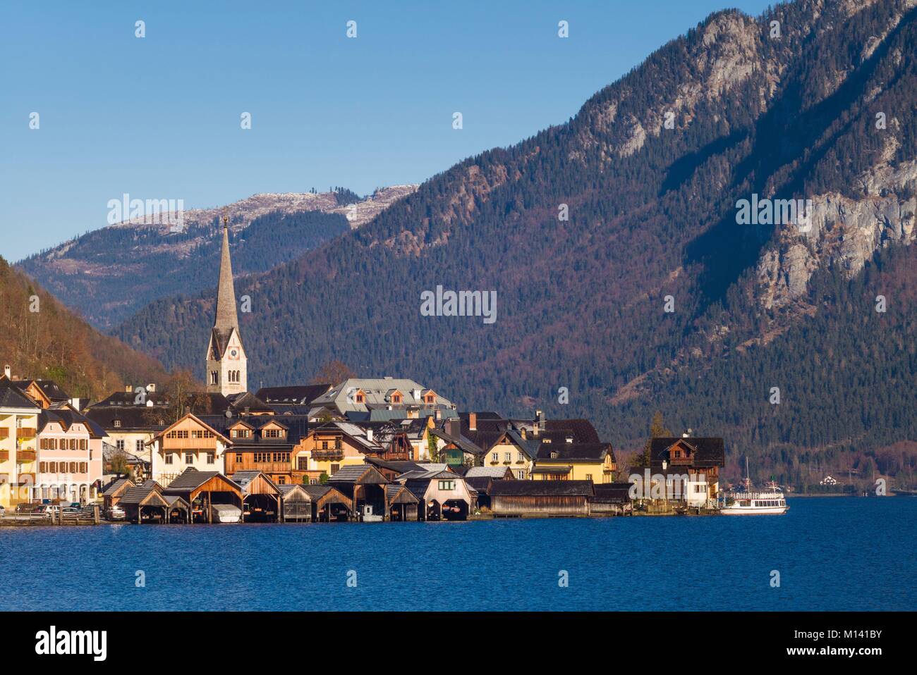
[[[565,122],[711,12],[767,5],[5,0],[0,255],[103,227],[124,192],[194,208],[421,182]]]

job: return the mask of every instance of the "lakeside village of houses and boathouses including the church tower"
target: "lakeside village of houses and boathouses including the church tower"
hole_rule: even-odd
[[[464,411],[409,378],[346,377],[251,393],[225,225],[205,354],[202,391],[176,395],[150,383],[99,401],[70,397],[52,380],[6,365],[0,523],[448,521],[717,509],[720,438],[653,438],[643,466],[619,467],[588,419]]]

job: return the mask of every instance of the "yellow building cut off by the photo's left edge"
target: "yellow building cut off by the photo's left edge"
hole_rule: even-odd
[[[28,502],[35,484],[40,408],[0,381],[0,506]]]

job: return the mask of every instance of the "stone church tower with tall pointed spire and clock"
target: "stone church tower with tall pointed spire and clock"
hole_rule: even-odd
[[[223,218],[223,255],[220,257],[220,285],[216,292],[216,318],[207,345],[207,393],[240,394],[248,391],[249,359],[242,347],[236,313],[236,288],[229,259],[229,219]]]

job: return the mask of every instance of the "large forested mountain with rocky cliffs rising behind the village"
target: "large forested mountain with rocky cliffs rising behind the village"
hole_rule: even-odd
[[[567,123],[242,279],[251,381],[338,359],[470,408],[588,417],[619,451],[659,409],[724,436],[727,475],[747,453],[795,484],[825,467],[912,484],[915,15],[797,0],[709,16]],[[746,224],[759,199],[812,206]],[[495,291],[496,321],[423,316],[437,286]],[[213,303],[161,299],[115,334],[199,372]]]

